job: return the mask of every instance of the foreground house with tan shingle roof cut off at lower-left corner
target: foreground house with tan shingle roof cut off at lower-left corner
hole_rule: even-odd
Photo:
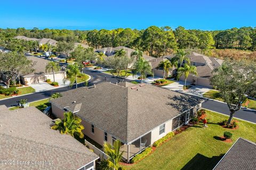
[[[1,105],[0,117],[0,159],[9,161],[0,169],[95,169],[99,156],[71,135],[52,130],[53,120],[37,108],[9,111]]]

